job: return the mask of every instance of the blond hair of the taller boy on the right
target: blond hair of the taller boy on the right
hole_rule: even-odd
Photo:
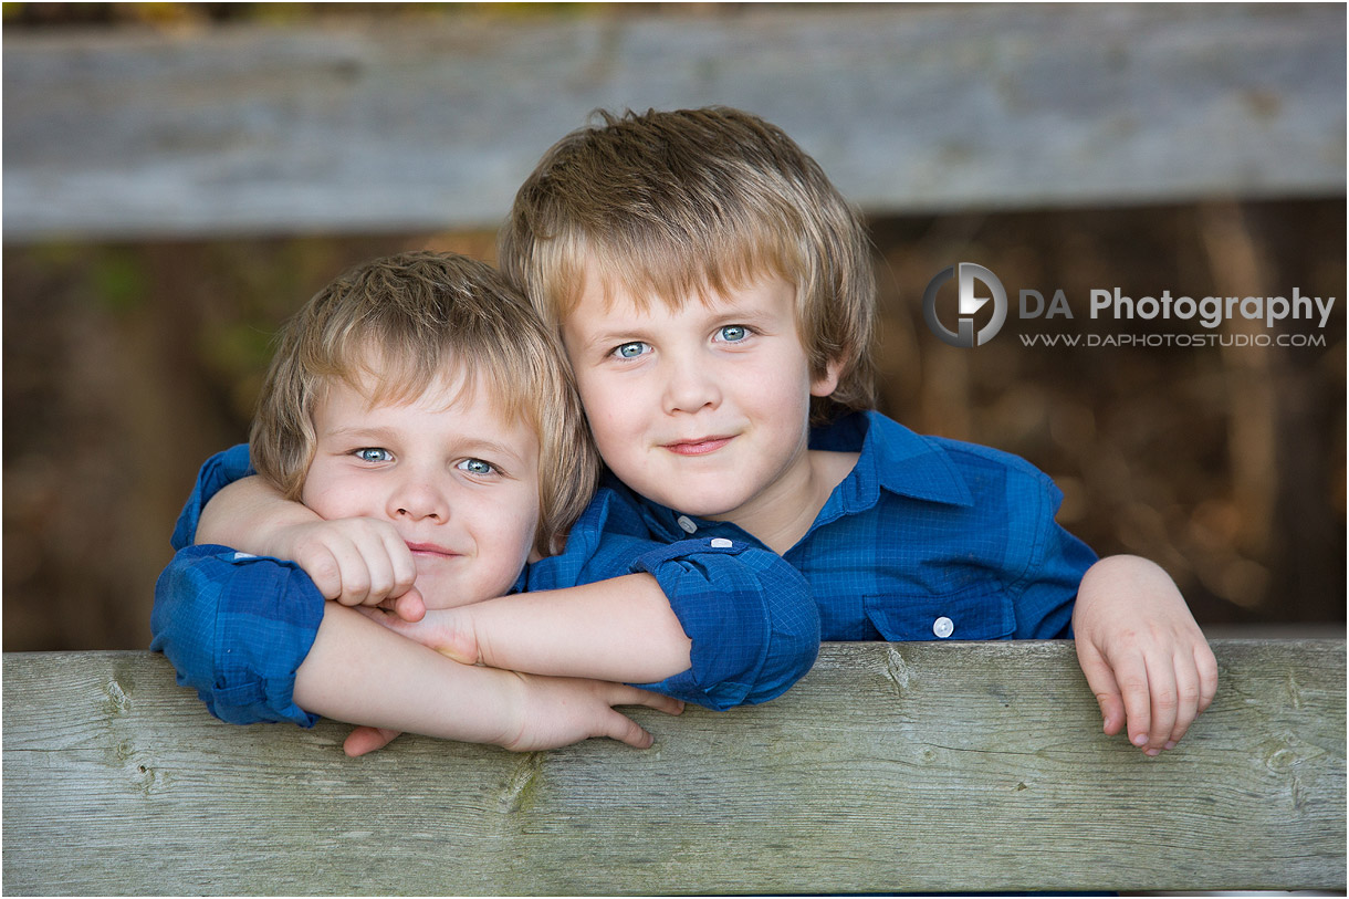
[[[858,213],[780,128],[724,107],[615,116],[563,138],[515,194],[498,261],[554,329],[592,261],[606,292],[669,306],[764,275],[796,288],[812,420],[874,405],[876,281]]]

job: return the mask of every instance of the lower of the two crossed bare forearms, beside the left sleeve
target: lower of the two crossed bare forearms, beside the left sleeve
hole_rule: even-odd
[[[522,682],[473,668],[328,603],[295,672],[295,703],[337,721],[506,745],[521,728]]]

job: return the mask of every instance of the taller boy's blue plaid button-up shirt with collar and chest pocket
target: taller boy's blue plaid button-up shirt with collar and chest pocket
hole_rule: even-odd
[[[1063,494],[1009,454],[920,436],[877,412],[811,435],[812,450],[857,452],[805,536],[784,557],[805,575],[823,640],[1000,640],[1071,634],[1072,603],[1095,555],[1055,513]],[[612,478],[607,518],[583,518],[567,552],[530,587],[569,586],[573,547],[616,568],[611,533],[762,547],[734,524],[681,514]],[[596,529],[600,533],[595,533]]]

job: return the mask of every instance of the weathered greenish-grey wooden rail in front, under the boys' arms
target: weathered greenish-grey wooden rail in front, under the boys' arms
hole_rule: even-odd
[[[210,718],[148,652],[5,653],[4,891],[786,894],[1345,887],[1345,643],[1215,641],[1148,759],[1072,645],[827,644],[635,751]]]

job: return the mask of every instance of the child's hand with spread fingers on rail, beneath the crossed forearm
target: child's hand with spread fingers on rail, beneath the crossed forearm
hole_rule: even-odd
[[[614,706],[648,706],[665,714],[684,711],[679,699],[637,687],[584,678],[515,675],[523,687],[519,728],[502,742],[513,752],[554,749],[590,737],[610,737],[646,749],[654,737]]]

